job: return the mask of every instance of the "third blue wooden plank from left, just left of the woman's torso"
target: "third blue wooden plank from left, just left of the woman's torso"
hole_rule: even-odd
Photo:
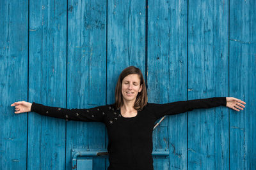
[[[68,108],[106,104],[106,1],[68,1]],[[66,169],[72,148],[106,148],[106,127],[99,122],[67,122]],[[105,169],[93,159],[93,169]]]

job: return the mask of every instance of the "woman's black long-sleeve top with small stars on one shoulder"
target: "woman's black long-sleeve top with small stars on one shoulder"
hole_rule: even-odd
[[[102,122],[108,130],[108,170],[154,169],[152,131],[158,118],[199,108],[226,106],[226,97],[211,97],[173,103],[147,103],[136,117],[122,117],[114,104],[90,109],[66,109],[33,102],[31,111],[65,120]]]

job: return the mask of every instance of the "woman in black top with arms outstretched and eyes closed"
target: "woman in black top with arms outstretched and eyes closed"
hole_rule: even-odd
[[[212,97],[166,104],[147,102],[147,89],[140,69],[130,66],[120,74],[115,103],[90,109],[66,109],[19,101],[15,113],[35,111],[40,115],[84,122],[103,122],[108,129],[110,169],[153,169],[152,131],[164,115],[193,109],[227,106],[243,110],[244,101],[234,97]]]

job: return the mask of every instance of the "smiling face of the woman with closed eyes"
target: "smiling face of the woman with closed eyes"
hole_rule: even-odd
[[[122,81],[122,96],[124,101],[135,101],[138,92],[141,92],[140,78],[138,74],[129,74]]]

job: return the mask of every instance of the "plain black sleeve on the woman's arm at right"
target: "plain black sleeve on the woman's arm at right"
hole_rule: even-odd
[[[173,103],[150,103],[152,111],[156,118],[161,118],[164,115],[175,115],[178,113],[184,113],[186,111],[192,111],[200,108],[212,108],[217,106],[226,106],[226,97],[211,97],[206,99],[195,99],[188,101],[176,101]]]

